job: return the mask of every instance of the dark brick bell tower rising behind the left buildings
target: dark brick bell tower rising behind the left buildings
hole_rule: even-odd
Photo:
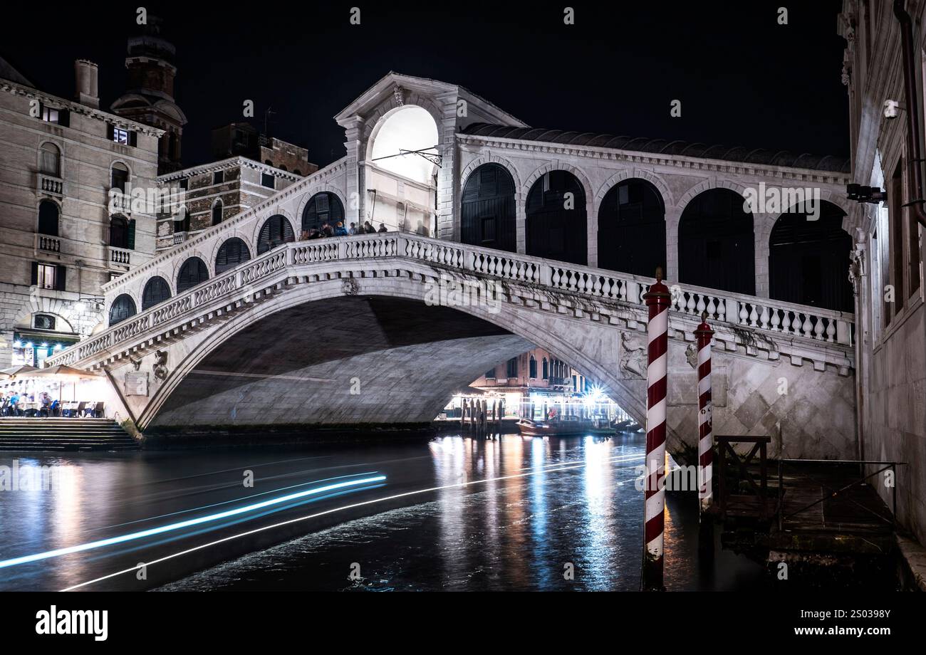
[[[157,173],[181,168],[181,136],[186,117],[174,102],[176,51],[162,35],[162,21],[148,16],[142,33],[129,38],[125,68],[129,70],[126,92],[111,105],[114,114],[137,120],[167,133],[157,150]]]

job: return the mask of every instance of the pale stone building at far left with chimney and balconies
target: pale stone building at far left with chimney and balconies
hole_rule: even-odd
[[[100,326],[103,285],[155,252],[163,130],[101,110],[92,62],[75,62],[73,100],[0,70],[0,365],[38,365]]]

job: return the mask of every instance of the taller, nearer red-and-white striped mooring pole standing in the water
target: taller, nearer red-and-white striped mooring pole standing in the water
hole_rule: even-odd
[[[666,506],[666,390],[669,370],[669,288],[662,283],[662,267],[656,284],[643,296],[649,308],[646,326],[646,486],[644,488],[644,553],[641,584],[644,590],[661,591],[662,539]]]

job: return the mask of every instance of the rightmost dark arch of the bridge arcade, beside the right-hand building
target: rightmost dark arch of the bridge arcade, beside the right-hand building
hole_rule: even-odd
[[[769,296],[838,312],[855,311],[846,273],[852,237],[843,229],[845,212],[820,201],[820,214],[794,207],[779,216],[769,238]]]

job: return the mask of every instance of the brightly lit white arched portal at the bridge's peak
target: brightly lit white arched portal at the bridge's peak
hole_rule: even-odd
[[[437,123],[428,110],[402,105],[383,116],[367,146],[365,216],[378,228],[432,236],[436,228]]]

